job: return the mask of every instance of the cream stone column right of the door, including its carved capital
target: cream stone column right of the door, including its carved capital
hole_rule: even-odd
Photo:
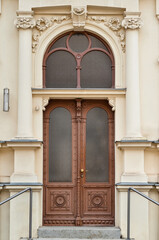
[[[139,43],[142,26],[140,13],[125,12],[122,26],[126,29],[126,137],[142,139],[140,127]]]

